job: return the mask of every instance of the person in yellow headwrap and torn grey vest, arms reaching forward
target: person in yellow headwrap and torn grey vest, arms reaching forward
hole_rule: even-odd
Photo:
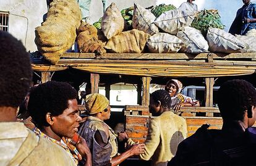
[[[87,95],[85,108],[88,111],[87,121],[83,122],[79,134],[85,138],[92,152],[93,165],[119,165],[130,156],[144,152],[145,144],[135,144],[126,132],[116,135],[104,121],[109,119],[111,107],[104,95],[92,93]],[[126,141],[130,148],[118,155],[117,138]]]

